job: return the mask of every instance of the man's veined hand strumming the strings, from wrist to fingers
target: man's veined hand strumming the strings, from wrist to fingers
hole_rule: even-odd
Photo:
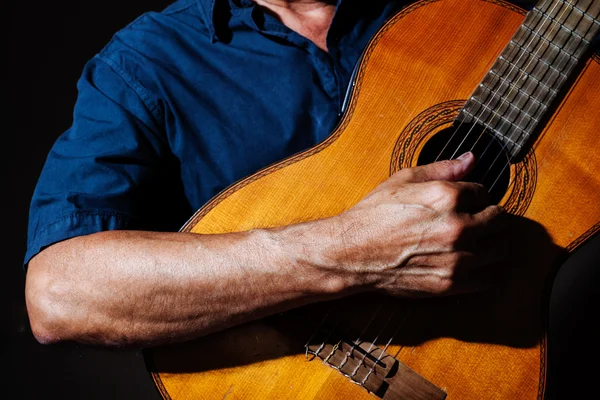
[[[332,219],[334,259],[361,285],[423,297],[481,290],[506,255],[506,215],[487,190],[461,182],[466,153],[404,169]]]

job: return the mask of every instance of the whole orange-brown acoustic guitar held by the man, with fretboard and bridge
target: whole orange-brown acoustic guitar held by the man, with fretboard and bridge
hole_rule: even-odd
[[[541,399],[548,288],[600,229],[600,0],[422,0],[371,39],[319,145],[232,185],[182,228],[326,218],[401,168],[471,150],[469,179],[531,229],[516,278],[422,300],[357,295],[145,350],[165,399]]]

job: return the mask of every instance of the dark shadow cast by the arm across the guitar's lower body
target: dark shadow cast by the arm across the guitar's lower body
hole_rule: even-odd
[[[309,342],[333,344],[359,337],[380,347],[390,340],[417,346],[439,338],[519,349],[540,346],[549,287],[567,253],[541,225],[507,218],[512,227],[509,262],[499,265],[486,291],[418,300],[370,293],[313,304],[198,340],[147,349],[148,368],[214,371],[303,354]]]

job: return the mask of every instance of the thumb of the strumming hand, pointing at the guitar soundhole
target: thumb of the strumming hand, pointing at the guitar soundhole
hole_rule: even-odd
[[[466,152],[454,160],[443,160],[415,168],[404,169],[398,174],[408,182],[459,181],[473,169],[475,156]],[[404,174],[403,174],[404,172]]]

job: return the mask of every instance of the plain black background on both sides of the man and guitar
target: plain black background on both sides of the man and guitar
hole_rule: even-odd
[[[71,123],[83,65],[118,29],[169,3],[63,0],[2,6],[3,398],[10,392],[11,398],[24,399],[159,398],[140,352],[38,344],[28,325],[21,263],[31,194],[50,146]],[[557,277],[551,302],[549,399],[598,398],[599,259],[597,237]]]

